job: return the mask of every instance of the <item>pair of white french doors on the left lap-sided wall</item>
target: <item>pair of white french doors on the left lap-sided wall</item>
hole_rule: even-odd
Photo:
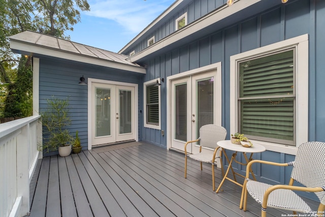
[[[92,83],[91,145],[135,139],[135,87]]]

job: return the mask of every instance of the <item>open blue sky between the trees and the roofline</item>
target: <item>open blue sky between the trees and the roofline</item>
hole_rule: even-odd
[[[71,41],[118,52],[175,0],[88,0]]]

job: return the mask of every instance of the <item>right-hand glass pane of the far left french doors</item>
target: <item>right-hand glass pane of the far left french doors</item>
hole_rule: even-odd
[[[119,133],[132,133],[132,95],[130,90],[120,90]]]

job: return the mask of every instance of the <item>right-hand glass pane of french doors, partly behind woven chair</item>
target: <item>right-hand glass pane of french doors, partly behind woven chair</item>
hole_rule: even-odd
[[[203,125],[213,123],[214,78],[197,81],[197,137]]]

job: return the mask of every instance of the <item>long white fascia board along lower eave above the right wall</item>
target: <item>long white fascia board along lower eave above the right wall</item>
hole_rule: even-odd
[[[262,0],[245,0],[245,1],[238,1],[231,7],[225,5],[221,7],[219,10],[216,10],[215,12],[208,14],[207,16],[204,16],[199,20],[184,26],[183,28],[177,30],[174,34],[171,34],[170,36],[155,42],[150,47],[140,51],[139,53],[136,53],[135,55],[127,59],[131,60],[132,63],[136,63],[136,61],[149,55],[150,53],[156,52],[161,48],[173,44],[182,38],[185,38],[195,32],[198,32],[199,30],[209,25],[212,25],[213,23],[219,22],[220,20],[228,16],[231,16],[232,14],[237,13],[245,8],[248,8],[260,1]]]

